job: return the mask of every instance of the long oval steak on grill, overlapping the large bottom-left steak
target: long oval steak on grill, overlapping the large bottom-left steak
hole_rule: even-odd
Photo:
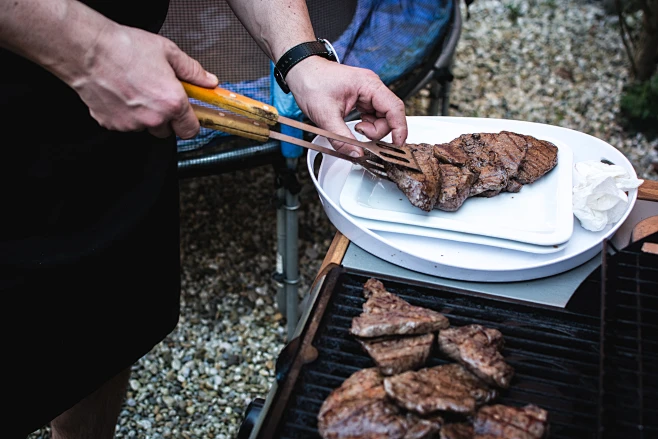
[[[386,377],[384,388],[398,405],[421,415],[437,410],[473,413],[497,396],[495,390],[454,363]]]

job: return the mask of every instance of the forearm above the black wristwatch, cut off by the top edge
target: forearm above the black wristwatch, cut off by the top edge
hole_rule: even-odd
[[[227,0],[260,48],[276,62],[288,49],[315,40],[304,0]]]

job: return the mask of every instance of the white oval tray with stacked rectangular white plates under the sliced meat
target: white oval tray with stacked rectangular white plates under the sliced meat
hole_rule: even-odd
[[[397,186],[350,162],[324,157],[317,177],[308,166],[329,219],[366,251],[422,273],[459,280],[506,282],[557,274],[595,256],[633,208],[601,232],[583,229],[572,212],[573,164],[605,158],[628,170],[616,148],[551,125],[479,118],[409,117],[409,143],[445,143],[468,133],[513,131],[558,147],[558,164],[518,193],[473,197],[456,212],[424,212]],[[348,125],[353,129],[357,122]],[[362,136],[355,133],[357,138]],[[390,140],[390,139],[385,139]],[[324,137],[314,143],[330,146]]]

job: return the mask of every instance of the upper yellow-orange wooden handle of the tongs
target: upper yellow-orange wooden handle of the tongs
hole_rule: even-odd
[[[279,119],[279,112],[276,108],[255,99],[220,87],[204,88],[184,81],[181,81],[181,84],[183,84],[183,88],[185,88],[185,92],[189,97],[201,102],[216,105],[247,116],[250,119],[265,122],[268,125],[276,124]]]

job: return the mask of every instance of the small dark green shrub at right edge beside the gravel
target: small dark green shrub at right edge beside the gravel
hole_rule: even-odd
[[[658,132],[658,74],[648,81],[625,85],[619,106],[628,128],[654,137]]]

